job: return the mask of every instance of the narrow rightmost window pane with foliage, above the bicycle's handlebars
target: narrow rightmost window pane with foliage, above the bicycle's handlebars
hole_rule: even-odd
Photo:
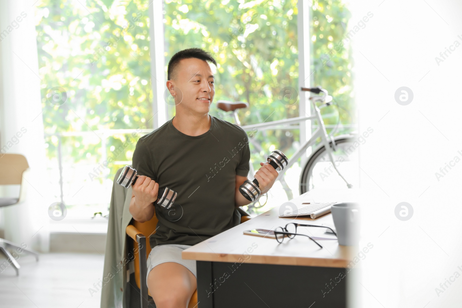
[[[344,0],[315,1],[310,10],[311,82],[334,97],[334,105],[323,110],[328,132],[351,133],[356,128],[353,102],[352,58],[347,24],[351,14]]]

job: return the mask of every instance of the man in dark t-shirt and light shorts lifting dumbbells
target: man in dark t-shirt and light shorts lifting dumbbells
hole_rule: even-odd
[[[159,222],[150,236],[148,289],[158,308],[187,307],[196,289],[195,260],[182,250],[240,223],[238,206],[249,201],[239,192],[249,171],[249,139],[244,130],[208,114],[215,95],[213,57],[200,48],[176,53],[168,65],[167,88],[176,115],[141,137],[133,154],[140,178],[133,185],[130,213],[139,222],[154,212]],[[277,171],[260,163],[255,173],[261,193]],[[167,210],[156,202],[159,187],[178,193]]]

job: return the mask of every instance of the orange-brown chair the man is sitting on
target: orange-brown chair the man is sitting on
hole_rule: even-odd
[[[237,210],[241,213],[241,223],[250,219],[249,214],[242,208],[239,207],[237,208]],[[151,294],[148,292],[146,285],[146,260],[149,256],[149,253],[151,252],[151,245],[149,244],[149,239],[146,240],[146,237],[149,237],[151,234],[155,232],[157,222],[158,219],[154,214],[151,220],[146,221],[144,223],[140,223],[132,219],[132,221],[126,228],[127,235],[133,239],[133,241],[130,241],[132,242],[133,246],[127,243],[127,247],[132,247],[134,249],[134,275],[136,285],[138,286],[138,288],[140,288],[141,308],[147,308],[148,303],[154,303],[152,300],[148,301],[148,295],[151,296]],[[194,308],[196,306],[197,290],[195,290],[193,296],[191,296],[188,308]]]

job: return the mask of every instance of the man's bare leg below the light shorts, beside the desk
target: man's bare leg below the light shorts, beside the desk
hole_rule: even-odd
[[[188,307],[197,289],[192,272],[175,262],[155,266],[147,276],[147,287],[157,308]]]

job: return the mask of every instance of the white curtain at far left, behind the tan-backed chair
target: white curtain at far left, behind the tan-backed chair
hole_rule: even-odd
[[[30,166],[30,173],[24,175],[27,201],[1,211],[7,240],[46,252],[51,201],[43,179],[45,149],[34,2],[0,1],[0,31],[7,31],[0,42],[0,148],[7,145],[7,153],[23,154]],[[21,128],[26,132],[13,139]]]

